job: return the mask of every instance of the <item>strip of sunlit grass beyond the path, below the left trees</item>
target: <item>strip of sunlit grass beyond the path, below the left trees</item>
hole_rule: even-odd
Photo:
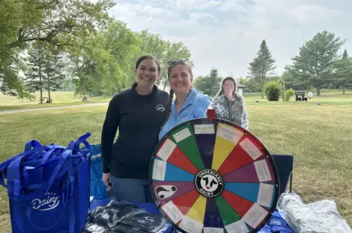
[[[74,91],[54,91],[52,92],[51,104],[38,104],[39,93],[36,93],[36,100],[19,100],[12,96],[3,96],[0,93],[0,111],[17,110],[17,109],[36,109],[45,107],[61,107],[71,105],[89,104],[94,102],[109,102],[112,96],[98,96],[89,98],[88,102],[82,102],[82,96],[74,96]]]

